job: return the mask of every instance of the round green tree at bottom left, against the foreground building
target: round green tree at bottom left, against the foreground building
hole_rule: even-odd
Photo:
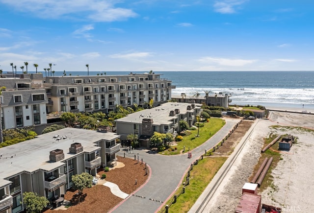
[[[27,213],[40,213],[49,204],[49,200],[44,196],[39,196],[35,192],[24,192],[23,202],[26,205]]]

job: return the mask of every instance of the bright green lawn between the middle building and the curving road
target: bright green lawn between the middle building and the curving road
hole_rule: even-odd
[[[200,127],[199,137],[197,136],[198,128],[196,130],[191,130],[191,134],[187,136],[183,136],[183,140],[181,142],[177,142],[178,145],[173,146],[177,149],[175,151],[164,150],[162,153],[164,155],[178,155],[183,151],[183,147],[185,146],[185,152],[192,150],[204,142],[206,142],[212,135],[214,135],[218,130],[221,129],[226,124],[226,121],[221,118],[210,118],[209,122],[204,123],[204,127]]]

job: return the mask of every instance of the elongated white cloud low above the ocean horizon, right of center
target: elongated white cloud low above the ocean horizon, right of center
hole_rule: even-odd
[[[202,63],[217,63],[221,66],[236,66],[236,67],[256,62],[256,60],[213,58],[213,57],[202,57],[198,61]]]

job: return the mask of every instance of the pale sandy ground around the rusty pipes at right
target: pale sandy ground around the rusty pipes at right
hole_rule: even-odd
[[[251,176],[257,164],[263,146],[263,138],[271,132],[297,137],[290,151],[284,152],[283,160],[272,170],[273,186],[263,192],[262,203],[280,207],[282,212],[313,212],[314,203],[314,132],[306,129],[271,128],[272,125],[294,126],[314,129],[314,115],[303,113],[302,108],[281,109],[284,112],[271,111],[269,119],[260,119],[254,128],[248,143],[236,160],[233,168],[217,189],[204,212],[233,213],[241,196],[241,189]]]

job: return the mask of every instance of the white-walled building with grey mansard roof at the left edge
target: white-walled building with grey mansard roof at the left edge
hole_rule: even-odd
[[[6,88],[1,95],[3,129],[47,123],[46,106],[51,103],[44,88],[32,89],[33,82],[43,82],[42,74],[0,78],[0,87]]]

